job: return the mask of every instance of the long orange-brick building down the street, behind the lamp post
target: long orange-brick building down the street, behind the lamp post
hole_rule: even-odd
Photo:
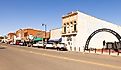
[[[19,29],[16,31],[16,37],[17,37],[17,39],[21,39],[21,40],[28,40],[30,38],[32,39],[32,37],[48,39],[49,32],[46,32],[46,38],[45,38],[45,31],[31,29],[31,28]]]

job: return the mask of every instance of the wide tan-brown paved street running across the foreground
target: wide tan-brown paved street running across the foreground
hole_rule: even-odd
[[[0,70],[121,70],[121,57],[10,45],[1,47]]]

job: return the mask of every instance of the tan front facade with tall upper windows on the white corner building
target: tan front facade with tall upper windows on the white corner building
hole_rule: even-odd
[[[62,41],[68,50],[74,50],[73,48],[76,47],[77,20],[78,13],[68,13],[62,17]]]

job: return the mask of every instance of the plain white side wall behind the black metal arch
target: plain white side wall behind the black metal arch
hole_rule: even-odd
[[[78,12],[78,34],[76,36],[76,47],[80,47],[83,51],[87,38],[92,32],[101,28],[108,28],[116,31],[121,35],[121,27],[112,23],[97,19],[95,17]],[[89,47],[102,48],[103,41],[114,42],[117,38],[108,32],[97,33],[90,41]]]

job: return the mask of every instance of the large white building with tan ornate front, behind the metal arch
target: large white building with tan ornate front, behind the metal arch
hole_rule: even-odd
[[[85,44],[88,43],[88,48],[101,49],[104,40],[106,42],[119,41],[119,37],[117,36],[117,39],[115,36],[117,33],[121,35],[120,26],[79,11],[62,16],[62,41],[66,43],[68,50],[83,51]],[[89,40],[90,35],[92,38]]]

